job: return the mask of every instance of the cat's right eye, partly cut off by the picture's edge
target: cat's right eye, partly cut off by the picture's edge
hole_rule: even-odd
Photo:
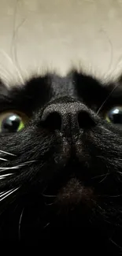
[[[122,125],[122,106],[110,109],[105,115],[105,120],[113,124]]]

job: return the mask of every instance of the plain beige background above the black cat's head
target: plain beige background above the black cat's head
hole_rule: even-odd
[[[0,0],[0,76],[72,65],[102,79],[122,72],[122,0]]]

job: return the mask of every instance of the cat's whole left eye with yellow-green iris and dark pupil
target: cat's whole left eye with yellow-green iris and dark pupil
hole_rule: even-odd
[[[0,132],[19,132],[28,121],[23,113],[0,113]]]

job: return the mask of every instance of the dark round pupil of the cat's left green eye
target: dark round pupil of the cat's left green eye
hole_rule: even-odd
[[[21,118],[17,114],[11,113],[8,117],[2,120],[2,132],[17,132],[20,126],[20,121]]]

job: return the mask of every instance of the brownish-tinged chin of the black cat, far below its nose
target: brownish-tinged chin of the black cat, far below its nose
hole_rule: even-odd
[[[43,194],[46,206],[56,206],[59,214],[67,214],[82,208],[82,213],[87,213],[95,204],[94,190],[91,187],[84,187],[79,180],[72,178],[64,185],[48,187]]]

